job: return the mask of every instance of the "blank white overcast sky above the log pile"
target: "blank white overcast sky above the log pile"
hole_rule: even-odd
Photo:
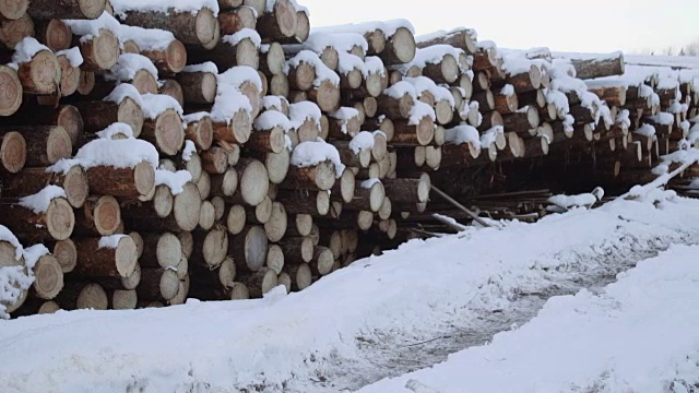
[[[298,0],[311,27],[406,19],[417,34],[473,27],[503,48],[675,48],[699,38],[699,0]]]

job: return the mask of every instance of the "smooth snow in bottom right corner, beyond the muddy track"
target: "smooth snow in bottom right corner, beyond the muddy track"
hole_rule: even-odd
[[[488,345],[359,393],[696,392],[699,247],[674,246],[618,278],[601,294],[554,297]]]

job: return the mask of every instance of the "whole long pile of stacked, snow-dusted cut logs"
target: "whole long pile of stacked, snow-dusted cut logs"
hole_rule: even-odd
[[[697,74],[621,55],[311,33],[294,0],[3,4],[0,267],[35,279],[0,297],[15,315],[301,290],[473,218],[434,186],[534,221],[548,189],[645,182],[699,140]]]

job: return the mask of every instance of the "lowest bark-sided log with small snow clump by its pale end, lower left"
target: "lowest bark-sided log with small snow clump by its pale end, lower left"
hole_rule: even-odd
[[[75,240],[78,264],[73,274],[82,277],[128,277],[135,270],[138,253],[133,239],[123,236],[108,247],[100,247],[100,238]],[[104,241],[102,241],[104,245]],[[116,246],[116,247],[114,247]],[[143,272],[141,272],[143,279]]]

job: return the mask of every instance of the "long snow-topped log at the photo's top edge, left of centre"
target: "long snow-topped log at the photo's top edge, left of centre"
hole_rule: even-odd
[[[173,32],[175,38],[192,46],[210,47],[218,40],[221,26],[212,10],[203,8],[197,12],[167,12],[127,10],[121,23],[144,28]]]

